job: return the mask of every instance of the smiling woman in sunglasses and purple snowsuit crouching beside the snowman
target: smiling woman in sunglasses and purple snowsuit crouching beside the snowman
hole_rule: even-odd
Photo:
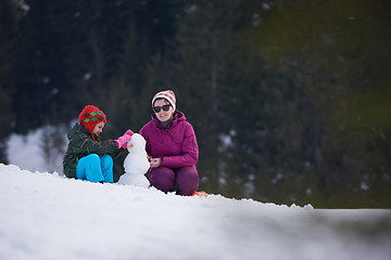
[[[172,90],[156,93],[152,99],[152,120],[140,130],[146,139],[150,160],[149,180],[165,193],[193,195],[200,178],[195,168],[199,157],[195,133],[184,113],[176,110]]]

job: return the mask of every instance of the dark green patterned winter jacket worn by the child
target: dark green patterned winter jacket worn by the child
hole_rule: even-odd
[[[67,178],[76,179],[77,161],[81,157],[89,154],[111,155],[113,158],[117,157],[125,150],[117,148],[117,143],[114,141],[103,141],[94,135],[92,139],[91,132],[85,127],[76,123],[67,134],[70,140],[68,146],[63,160],[64,174]]]

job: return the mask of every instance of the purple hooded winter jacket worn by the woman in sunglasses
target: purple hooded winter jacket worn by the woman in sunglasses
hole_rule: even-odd
[[[195,133],[186,121],[184,113],[176,110],[174,120],[166,129],[160,123],[155,115],[147,122],[139,133],[146,139],[146,150],[152,158],[161,158],[160,166],[179,168],[193,166],[198,161],[199,147]]]

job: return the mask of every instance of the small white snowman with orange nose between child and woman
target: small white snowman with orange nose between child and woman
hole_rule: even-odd
[[[121,176],[118,183],[149,187],[150,183],[144,176],[150,168],[146,152],[146,140],[139,133],[134,133],[127,148],[129,154],[124,160],[125,173]]]

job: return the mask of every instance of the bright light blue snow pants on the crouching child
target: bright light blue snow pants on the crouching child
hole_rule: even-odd
[[[113,158],[90,154],[77,162],[76,177],[90,182],[113,182]]]

